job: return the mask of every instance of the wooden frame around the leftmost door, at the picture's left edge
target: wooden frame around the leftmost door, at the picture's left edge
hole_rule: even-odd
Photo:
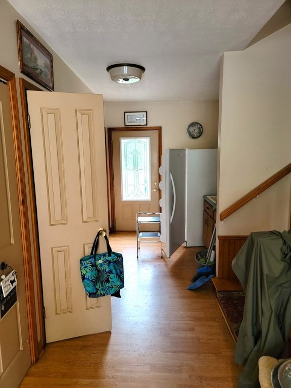
[[[7,70],[0,65],[0,78],[7,82],[9,88],[10,108],[12,118],[12,131],[13,131],[13,143],[14,143],[14,155],[16,165],[16,179],[18,189],[18,203],[20,214],[20,228],[22,238],[22,253],[23,253],[23,267],[24,267],[24,280],[26,289],[26,303],[27,303],[27,316],[28,316],[28,330],[30,341],[30,356],[31,363],[35,363],[38,359],[37,354],[37,323],[36,323],[36,309],[35,309],[35,297],[34,297],[34,279],[32,271],[32,252],[31,252],[31,240],[30,240],[30,225],[29,225],[29,212],[26,196],[26,184],[25,184],[25,169],[24,159],[22,153],[22,141],[21,141],[21,126],[19,120],[18,98],[16,88],[16,77],[13,72]]]

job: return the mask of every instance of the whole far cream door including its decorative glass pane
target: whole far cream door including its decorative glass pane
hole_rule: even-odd
[[[161,133],[156,127],[109,130],[112,130],[115,231],[135,231],[137,212],[159,211]]]

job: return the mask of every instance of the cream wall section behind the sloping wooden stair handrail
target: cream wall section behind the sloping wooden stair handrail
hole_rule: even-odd
[[[218,134],[218,212],[290,163],[291,24],[242,52],[224,53]],[[289,227],[290,174],[218,221],[218,234]]]

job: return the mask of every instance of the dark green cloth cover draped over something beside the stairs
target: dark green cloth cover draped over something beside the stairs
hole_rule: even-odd
[[[291,325],[291,231],[253,232],[232,261],[246,294],[235,362],[238,388],[259,388],[261,356],[279,358]],[[286,356],[286,355],[285,355]]]

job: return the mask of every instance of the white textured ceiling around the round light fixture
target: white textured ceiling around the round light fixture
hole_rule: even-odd
[[[221,54],[244,50],[283,2],[9,0],[105,102],[218,99]],[[106,71],[115,63],[146,71],[117,84]]]

